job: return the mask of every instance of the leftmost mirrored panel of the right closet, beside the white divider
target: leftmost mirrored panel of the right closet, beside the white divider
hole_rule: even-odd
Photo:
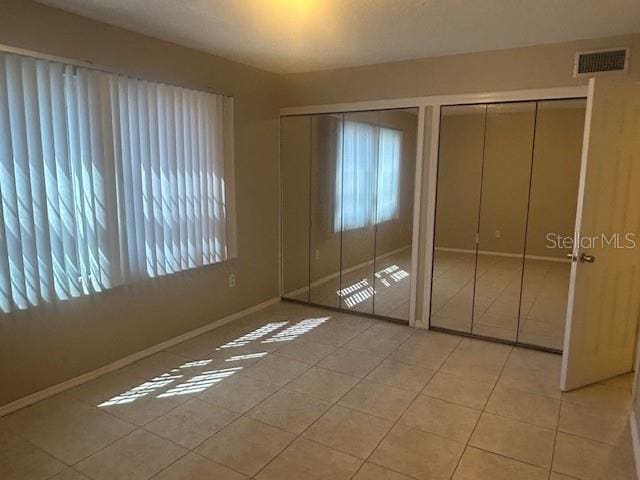
[[[471,332],[484,105],[441,110],[431,325]]]

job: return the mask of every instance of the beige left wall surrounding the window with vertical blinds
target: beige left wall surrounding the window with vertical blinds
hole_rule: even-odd
[[[24,0],[1,8],[2,44],[235,97],[238,258],[0,316],[0,405],[277,296],[279,77]]]

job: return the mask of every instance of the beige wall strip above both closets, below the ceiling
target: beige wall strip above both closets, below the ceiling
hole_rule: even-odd
[[[455,34],[455,33],[452,33]],[[573,78],[574,54],[629,46],[629,73],[640,79],[640,33],[535,47],[407,60],[285,76],[286,106],[560,87]]]

